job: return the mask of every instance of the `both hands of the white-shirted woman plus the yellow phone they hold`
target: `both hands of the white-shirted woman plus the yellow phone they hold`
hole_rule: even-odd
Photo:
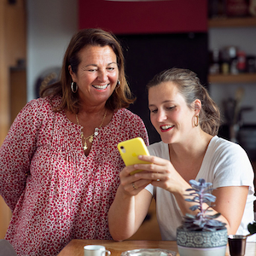
[[[183,177],[175,170],[170,160],[151,156],[142,138],[119,143],[118,148],[126,166],[120,173],[125,191],[136,195],[148,183],[172,193],[177,193],[183,187]]]

